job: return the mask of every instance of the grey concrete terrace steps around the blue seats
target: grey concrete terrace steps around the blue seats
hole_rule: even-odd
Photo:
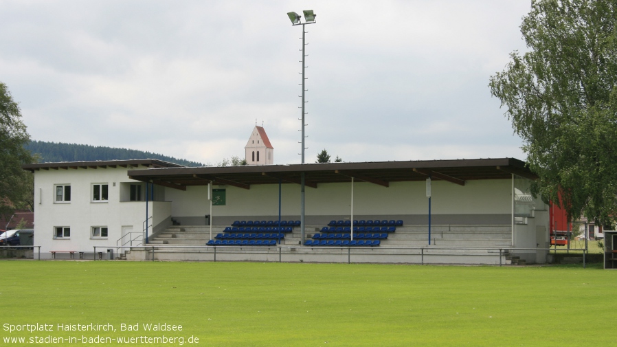
[[[212,238],[225,230],[225,225],[212,227]],[[322,226],[307,225],[305,238],[311,238]],[[278,247],[203,247],[210,240],[210,227],[205,225],[173,225],[155,237],[144,247],[133,247],[132,251],[120,254],[128,260],[240,260],[240,261],[308,261],[345,262],[348,249],[341,247],[313,248],[298,247],[281,250]],[[282,246],[300,246],[300,228],[285,234]],[[509,225],[434,225],[431,227],[431,245],[428,245],[427,225],[397,227],[389,233],[387,240],[381,240],[381,247],[353,250],[353,262],[411,262],[411,263],[460,263],[460,264],[524,264],[524,260],[511,256],[507,248],[511,244]],[[161,247],[156,247],[160,245]],[[170,248],[166,246],[187,246]],[[194,247],[194,246],[199,246]],[[420,249],[396,249],[392,247],[425,247]],[[435,247],[435,248],[434,248]],[[503,248],[502,259],[498,250],[486,249],[437,249],[447,248]],[[153,254],[154,253],[154,254]]]

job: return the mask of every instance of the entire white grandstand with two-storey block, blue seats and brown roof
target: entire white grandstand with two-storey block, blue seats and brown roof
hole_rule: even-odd
[[[535,249],[548,245],[547,207],[529,192],[535,175],[513,158],[24,168],[34,172],[43,253],[117,246],[135,260],[214,260],[216,249],[217,260],[546,261]]]

